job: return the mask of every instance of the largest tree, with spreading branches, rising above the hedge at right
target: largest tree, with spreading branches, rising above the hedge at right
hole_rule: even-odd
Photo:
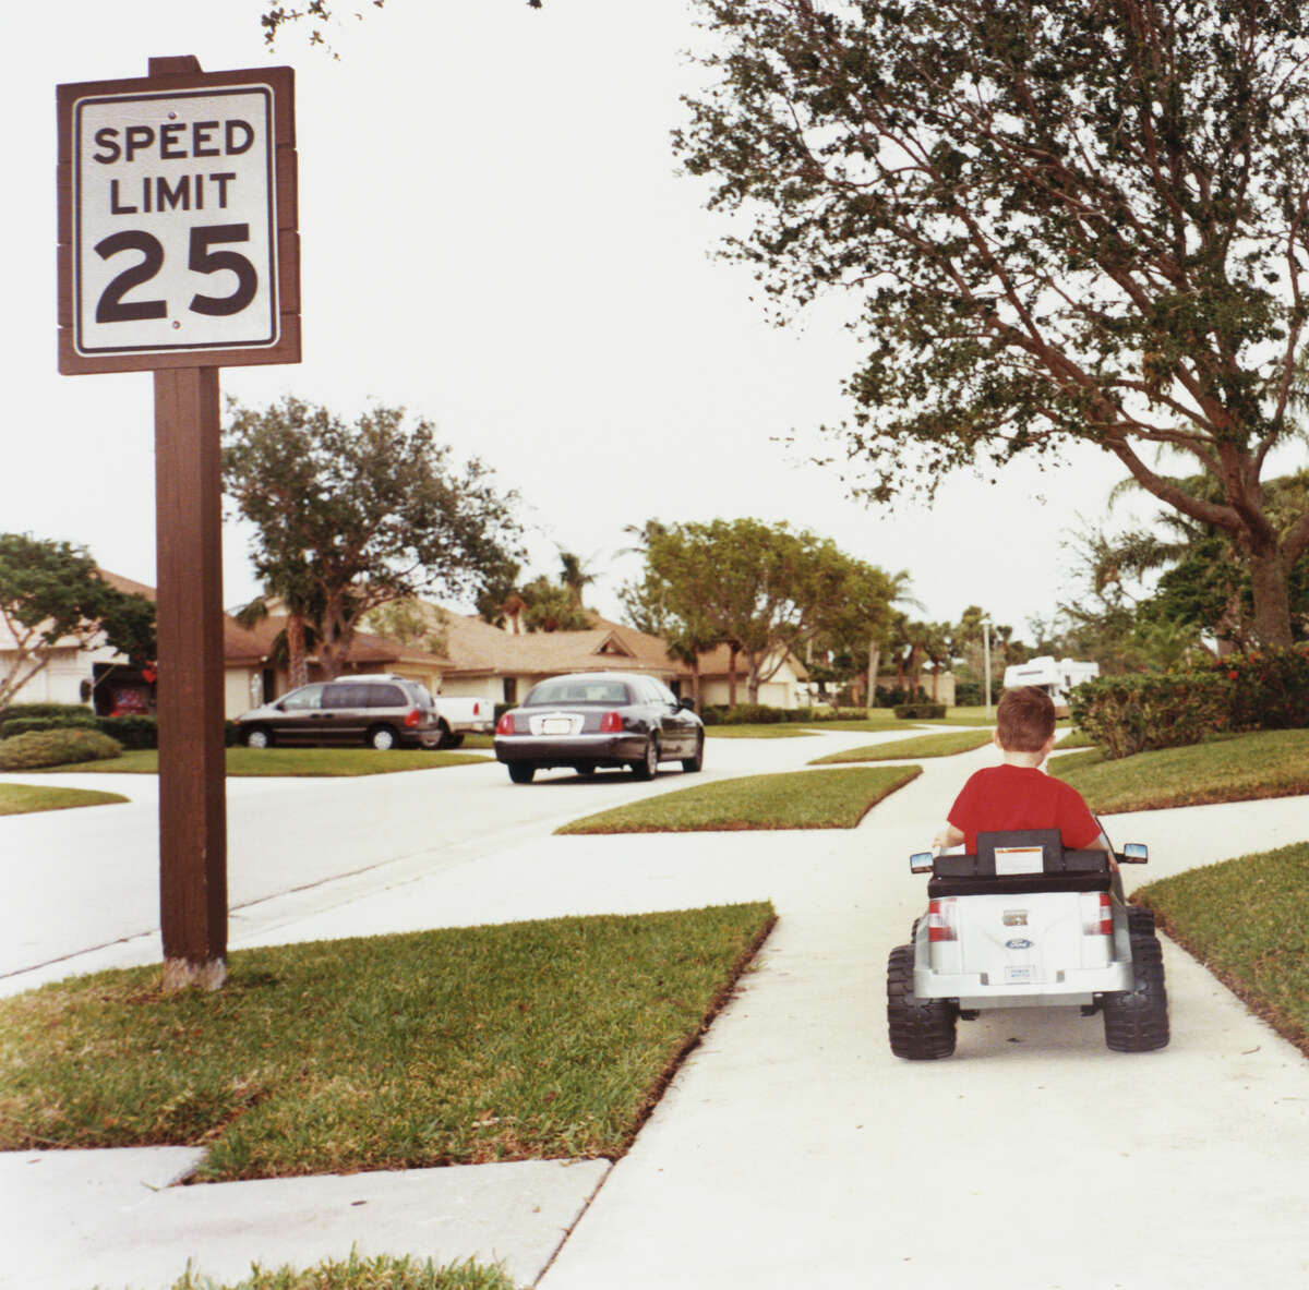
[[[779,317],[861,305],[833,433],[856,492],[1072,441],[1227,534],[1291,642],[1309,508],[1261,476],[1296,430],[1309,306],[1309,34],[1292,0],[698,0],[716,84],[675,147],[749,226]],[[1216,485],[1187,489],[1179,455]]]

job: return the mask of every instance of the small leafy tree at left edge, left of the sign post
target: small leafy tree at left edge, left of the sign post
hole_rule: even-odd
[[[110,586],[85,547],[31,534],[0,534],[0,624],[13,641],[0,672],[0,712],[48,666],[60,641],[111,645],[136,663],[154,657],[154,606]]]

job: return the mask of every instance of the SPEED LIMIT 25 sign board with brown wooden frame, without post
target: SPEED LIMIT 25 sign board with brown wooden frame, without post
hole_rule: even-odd
[[[58,88],[60,372],[298,361],[292,77]]]

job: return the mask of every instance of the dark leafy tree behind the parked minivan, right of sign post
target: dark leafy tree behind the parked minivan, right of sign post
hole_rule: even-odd
[[[274,593],[321,604],[327,678],[364,614],[420,593],[473,595],[512,560],[514,495],[496,493],[480,462],[457,471],[449,457],[431,423],[406,425],[403,408],[376,407],[352,425],[293,398],[229,408],[224,480],[255,527],[255,572]]]

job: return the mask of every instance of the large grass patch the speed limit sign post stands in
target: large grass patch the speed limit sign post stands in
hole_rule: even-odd
[[[771,905],[242,950],[0,1000],[0,1150],[204,1145],[202,1177],[618,1157]]]

